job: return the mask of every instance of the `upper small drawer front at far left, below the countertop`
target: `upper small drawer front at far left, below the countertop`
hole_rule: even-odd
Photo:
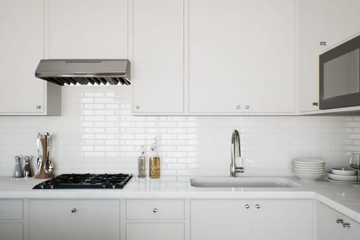
[[[0,200],[0,220],[23,219],[23,200]]]

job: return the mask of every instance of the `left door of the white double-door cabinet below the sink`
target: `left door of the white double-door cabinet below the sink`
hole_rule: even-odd
[[[191,200],[191,240],[251,239],[249,202]]]

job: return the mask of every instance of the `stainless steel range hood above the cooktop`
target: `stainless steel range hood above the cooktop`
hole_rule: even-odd
[[[124,84],[130,85],[129,60],[40,60],[35,76],[64,84]]]

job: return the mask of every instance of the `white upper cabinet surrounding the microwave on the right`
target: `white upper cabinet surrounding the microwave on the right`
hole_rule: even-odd
[[[360,32],[360,1],[298,0],[296,8],[298,110],[308,112],[319,110],[319,55]]]

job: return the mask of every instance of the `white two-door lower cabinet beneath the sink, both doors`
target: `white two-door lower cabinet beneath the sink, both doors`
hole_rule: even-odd
[[[313,239],[312,200],[192,200],[191,240]]]

